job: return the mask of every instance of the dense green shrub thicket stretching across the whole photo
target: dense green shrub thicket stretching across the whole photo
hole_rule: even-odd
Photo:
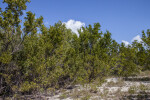
[[[130,76],[150,69],[150,30],[142,42],[118,44],[95,23],[79,36],[61,22],[47,28],[27,12],[29,0],[3,0],[0,8],[0,95],[32,93],[84,84],[109,75]],[[21,27],[23,23],[23,27]]]

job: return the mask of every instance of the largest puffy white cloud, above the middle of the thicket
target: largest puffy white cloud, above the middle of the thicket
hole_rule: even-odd
[[[83,27],[85,26],[85,23],[80,22],[80,21],[75,21],[72,19],[70,19],[67,22],[63,22],[63,23],[66,24],[67,29],[71,29],[72,32],[76,33],[78,36],[79,36],[78,29],[80,29],[82,26]]]

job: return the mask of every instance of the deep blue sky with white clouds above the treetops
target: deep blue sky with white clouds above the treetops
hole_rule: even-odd
[[[62,21],[76,34],[80,27],[99,22],[118,43],[141,41],[142,30],[150,29],[150,0],[31,0],[26,11],[43,16],[47,27]]]

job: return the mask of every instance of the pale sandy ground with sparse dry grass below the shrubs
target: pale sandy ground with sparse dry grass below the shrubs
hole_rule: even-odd
[[[78,84],[72,88],[57,90],[53,96],[52,94],[28,95],[19,100],[150,100],[150,76],[111,77],[105,79],[102,85]]]

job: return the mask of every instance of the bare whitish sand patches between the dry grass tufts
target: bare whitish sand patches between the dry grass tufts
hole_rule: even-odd
[[[100,93],[104,93],[104,92],[108,92],[108,95],[110,95],[109,99],[107,100],[113,100],[111,99],[111,96],[113,96],[113,93],[117,92],[118,90],[120,90],[121,92],[128,92],[129,88],[131,86],[140,86],[141,84],[143,85],[149,85],[150,86],[150,82],[132,82],[132,81],[123,81],[125,83],[124,86],[120,87],[120,86],[107,86],[107,83],[109,82],[114,82],[114,83],[117,83],[118,81],[120,81],[121,78],[108,78],[106,79],[106,82],[104,84],[102,84],[102,86],[100,87],[97,87],[98,91]],[[75,89],[77,91],[81,91],[81,90],[89,90],[90,89],[90,85],[86,84],[85,86],[82,86],[82,85],[76,85],[76,88],[74,88],[72,91],[75,91]],[[68,92],[70,92],[71,90],[67,90]],[[60,100],[59,97],[61,96],[62,94],[59,93],[58,95],[55,95],[55,96],[52,96],[52,97],[48,97],[48,100]],[[90,100],[92,99],[100,99],[100,100],[103,100],[101,99],[101,97],[98,95],[98,96],[93,96],[90,98]],[[73,98],[71,97],[68,97],[66,99],[61,99],[61,100],[73,100]]]

